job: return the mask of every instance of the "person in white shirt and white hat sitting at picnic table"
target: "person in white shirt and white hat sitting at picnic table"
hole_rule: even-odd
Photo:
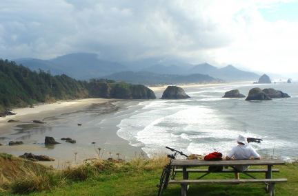
[[[259,160],[261,159],[260,155],[252,148],[248,146],[247,138],[244,135],[239,135],[237,138],[238,145],[233,147],[230,153],[226,155],[226,160]],[[239,171],[246,171],[248,165],[234,166],[239,169]],[[235,172],[235,178],[239,179],[239,173]]]

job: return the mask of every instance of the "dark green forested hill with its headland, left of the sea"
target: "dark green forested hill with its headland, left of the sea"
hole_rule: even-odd
[[[122,98],[120,92],[126,95],[125,98],[155,98],[153,91],[143,85],[103,79],[90,80],[88,83],[74,80],[65,74],[52,76],[50,71],[44,72],[41,69],[39,73],[32,72],[28,67],[0,58],[0,111],[8,107],[28,107],[37,102],[55,100]]]

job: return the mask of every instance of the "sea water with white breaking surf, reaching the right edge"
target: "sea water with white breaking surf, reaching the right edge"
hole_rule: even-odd
[[[246,101],[222,98],[226,91],[239,89],[244,96],[253,87],[274,88],[290,98]],[[185,87],[191,98],[144,100],[130,105],[121,116],[117,135],[132,146],[141,146],[149,157],[166,152],[170,146],[186,154],[206,155],[219,151],[226,155],[237,145],[237,135],[259,138],[250,142],[262,155],[284,160],[298,157],[298,83]]]

